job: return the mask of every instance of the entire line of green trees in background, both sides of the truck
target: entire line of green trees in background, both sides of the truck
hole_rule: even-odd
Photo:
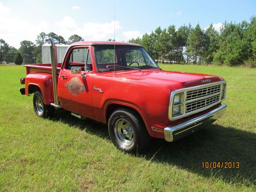
[[[0,63],[13,62],[17,58],[21,58],[24,64],[41,63],[41,46],[50,44],[49,37],[56,39],[56,44],[72,44],[83,40],[76,34],[66,41],[56,33],[41,32],[37,35],[35,44],[23,40],[17,50],[0,39]],[[252,16],[249,23],[225,22],[220,32],[213,25],[206,30],[199,24],[195,28],[189,24],[178,29],[172,25],[165,29],[158,27],[152,33],[145,33],[141,38],[133,38],[129,42],[144,46],[158,62],[256,67],[255,39],[256,17]]]

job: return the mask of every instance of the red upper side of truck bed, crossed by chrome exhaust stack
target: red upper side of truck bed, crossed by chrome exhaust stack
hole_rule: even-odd
[[[27,75],[30,73],[51,73],[52,72],[52,65],[51,63],[46,64],[30,64],[24,65],[27,70]],[[57,65],[57,73],[59,72],[61,67],[61,62]]]

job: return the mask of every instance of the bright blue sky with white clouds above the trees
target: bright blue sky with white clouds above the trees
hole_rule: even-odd
[[[84,40],[127,41],[175,25],[203,29],[212,24],[220,30],[226,22],[249,22],[256,16],[252,1],[152,1],[152,0],[0,0],[0,39],[20,47],[20,41],[35,42],[40,32],[54,32],[66,40],[77,34]]]

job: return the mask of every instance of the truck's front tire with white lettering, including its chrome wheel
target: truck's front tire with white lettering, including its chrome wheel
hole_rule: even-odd
[[[130,109],[115,110],[109,118],[109,135],[114,145],[126,153],[139,153],[150,145],[148,135],[140,115]]]

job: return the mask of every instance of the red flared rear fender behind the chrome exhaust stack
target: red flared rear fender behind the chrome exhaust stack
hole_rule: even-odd
[[[51,104],[53,99],[52,75],[48,73],[30,73],[26,77],[25,90],[26,95],[30,95],[34,91],[32,86],[37,86],[42,94],[44,104]]]

